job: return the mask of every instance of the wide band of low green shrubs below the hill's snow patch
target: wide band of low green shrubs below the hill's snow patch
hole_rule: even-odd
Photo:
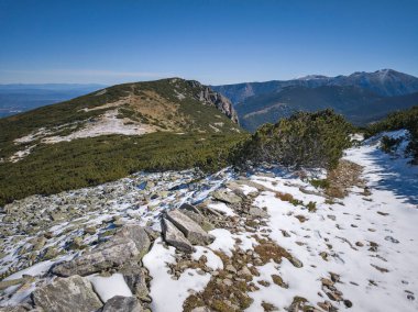
[[[230,165],[229,152],[242,137],[157,132],[44,144],[18,163],[0,164],[0,205],[34,193],[100,185],[140,170],[216,171]]]

